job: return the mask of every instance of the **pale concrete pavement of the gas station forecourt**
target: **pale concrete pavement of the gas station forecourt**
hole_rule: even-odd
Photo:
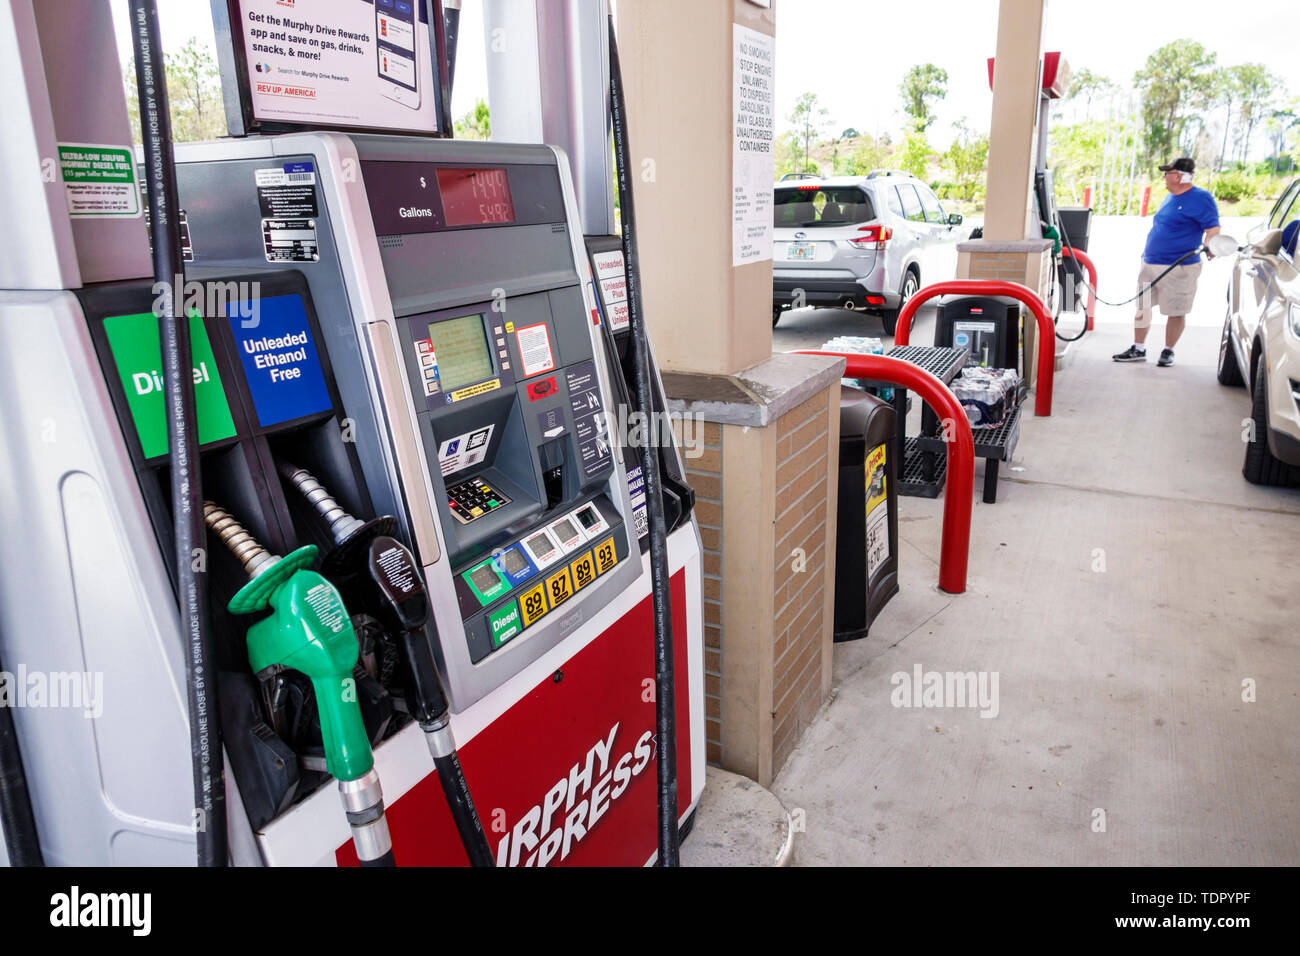
[[[1108,225],[1102,294],[1126,298]],[[1226,265],[1178,364],[1113,363],[1131,311],[1098,313],[996,505],[978,466],[965,594],[935,587],[942,501],[900,499],[902,591],[836,646],[836,696],[772,787],[801,865],[1300,864],[1300,492],[1240,475],[1247,395],[1214,381]],[[776,347],[863,323],[789,316]],[[900,706],[918,667],[984,680],[984,706]]]

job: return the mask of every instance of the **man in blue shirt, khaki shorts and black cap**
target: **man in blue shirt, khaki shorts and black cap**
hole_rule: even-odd
[[[1165,313],[1165,350],[1156,364],[1174,364],[1174,346],[1187,326],[1187,313],[1196,298],[1196,281],[1201,276],[1200,247],[1218,235],[1218,204],[1208,191],[1192,185],[1196,163],[1182,156],[1161,166],[1169,195],[1160,204],[1147,235],[1138,274],[1138,316],[1134,319],[1134,343],[1114,355],[1115,362],[1145,362],[1147,333],[1152,311],[1160,306]],[[1209,255],[1209,252],[1206,252]],[[1174,263],[1179,263],[1174,265]],[[1170,265],[1174,268],[1157,282]],[[1152,282],[1156,285],[1147,290]],[[1145,291],[1144,291],[1145,290]]]

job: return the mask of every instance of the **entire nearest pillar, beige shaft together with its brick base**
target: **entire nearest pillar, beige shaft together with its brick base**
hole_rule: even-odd
[[[844,372],[772,355],[770,239],[733,265],[733,159],[753,156],[733,147],[734,34],[775,23],[749,0],[618,4],[646,324],[670,411],[703,436],[685,466],[705,551],[708,760],[763,786],[831,687]]]

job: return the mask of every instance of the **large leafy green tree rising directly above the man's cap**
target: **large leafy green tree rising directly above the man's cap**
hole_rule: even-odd
[[[1214,53],[1196,40],[1184,39],[1166,43],[1134,74],[1134,86],[1143,100],[1148,166],[1157,157],[1173,156],[1183,143],[1192,111],[1212,95],[1213,66]]]

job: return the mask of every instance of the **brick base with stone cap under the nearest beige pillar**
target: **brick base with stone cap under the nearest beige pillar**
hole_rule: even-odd
[[[774,355],[737,376],[663,376],[673,415],[706,419],[685,464],[705,550],[708,760],[763,786],[831,691],[842,371]]]

